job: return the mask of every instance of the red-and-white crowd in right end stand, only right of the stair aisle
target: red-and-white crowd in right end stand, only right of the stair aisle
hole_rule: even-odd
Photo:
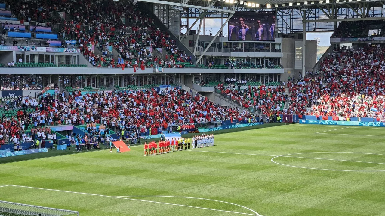
[[[366,45],[330,54],[319,72],[290,84],[290,112],[344,117],[385,117],[385,48]],[[319,75],[319,76],[317,76]]]

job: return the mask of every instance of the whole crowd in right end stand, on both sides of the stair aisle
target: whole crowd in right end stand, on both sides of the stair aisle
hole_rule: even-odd
[[[319,71],[282,86],[227,89],[222,94],[242,107],[262,114],[308,114],[351,117],[385,117],[385,47],[346,46],[328,54]],[[286,106],[285,106],[286,101]]]

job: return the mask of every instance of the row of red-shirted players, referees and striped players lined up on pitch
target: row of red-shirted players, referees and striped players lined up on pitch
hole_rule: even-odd
[[[192,148],[202,148],[214,145],[214,135],[199,135],[192,137]],[[152,141],[150,143],[144,143],[144,156],[157,155],[169,152],[177,152],[190,149],[190,138],[178,138],[159,140],[158,143]]]

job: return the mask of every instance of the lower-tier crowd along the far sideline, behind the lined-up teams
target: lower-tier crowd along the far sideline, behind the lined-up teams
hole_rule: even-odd
[[[26,130],[32,129],[33,135],[50,125],[87,125],[86,130],[91,135],[99,135],[105,130],[134,130],[137,133],[152,134],[152,129],[167,130],[172,125],[243,120],[249,115],[247,111],[218,106],[206,97],[191,95],[184,89],[166,89],[160,94],[151,89],[102,92],[78,97],[80,95],[80,91],[67,96],[58,90],[55,95],[45,92],[39,99],[15,99],[12,108],[20,111],[15,117],[2,116],[0,143],[2,135],[13,135],[17,138],[12,139],[16,144],[22,142],[22,134]],[[95,130],[95,124],[100,124],[98,130]],[[9,142],[9,139],[6,141]]]

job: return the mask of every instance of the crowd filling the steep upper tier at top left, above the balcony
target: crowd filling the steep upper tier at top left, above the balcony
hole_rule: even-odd
[[[85,1],[37,1],[21,0],[6,2],[13,13],[20,19],[32,21],[62,23],[57,20],[55,11],[64,11],[71,21],[64,20],[59,35],[65,40],[76,40],[82,53],[89,62],[97,67],[183,67],[178,62],[191,62],[191,56],[179,50],[170,36],[156,28],[154,20],[139,4],[113,2],[107,0]],[[121,21],[120,18],[125,18]],[[87,46],[91,45],[91,46]],[[94,53],[94,49],[103,50],[103,46],[114,46],[122,62]],[[161,47],[171,54],[170,59],[154,61],[148,47]],[[174,59],[175,56],[175,59]]]

